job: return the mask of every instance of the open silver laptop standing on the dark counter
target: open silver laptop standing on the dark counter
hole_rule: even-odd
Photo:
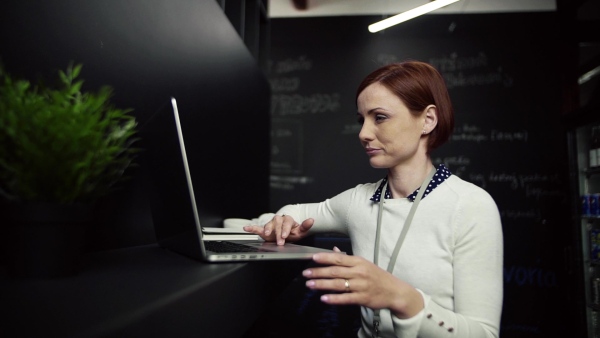
[[[159,109],[141,128],[143,170],[158,244],[210,262],[310,259],[331,250],[264,241],[206,241],[196,205],[177,101]],[[214,215],[213,215],[214,216]]]

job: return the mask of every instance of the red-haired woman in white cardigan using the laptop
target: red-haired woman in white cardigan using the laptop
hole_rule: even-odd
[[[387,65],[363,80],[356,102],[360,142],[387,176],[321,203],[287,205],[246,231],[278,244],[348,234],[353,256],[317,254],[319,267],[303,275],[308,288],[332,291],[321,301],[361,306],[359,337],[498,337],[498,209],[430,158],[454,125],[442,76],[423,62]]]

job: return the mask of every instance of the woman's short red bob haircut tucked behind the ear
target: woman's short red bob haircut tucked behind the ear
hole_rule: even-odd
[[[377,82],[396,94],[415,115],[430,104],[436,106],[438,122],[429,134],[428,152],[448,141],[454,130],[454,110],[444,78],[433,66],[412,60],[383,66],[361,82],[356,99],[365,88]]]

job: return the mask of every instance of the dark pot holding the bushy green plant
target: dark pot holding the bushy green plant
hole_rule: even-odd
[[[89,205],[10,203],[7,267],[18,278],[56,278],[76,274],[91,222]]]

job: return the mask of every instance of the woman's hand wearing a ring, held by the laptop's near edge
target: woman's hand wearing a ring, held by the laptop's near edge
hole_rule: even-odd
[[[390,309],[398,318],[410,318],[423,309],[423,297],[408,283],[358,256],[318,253],[313,260],[324,267],[303,271],[306,286],[331,290],[321,301],[327,304],[357,304],[371,309]]]

